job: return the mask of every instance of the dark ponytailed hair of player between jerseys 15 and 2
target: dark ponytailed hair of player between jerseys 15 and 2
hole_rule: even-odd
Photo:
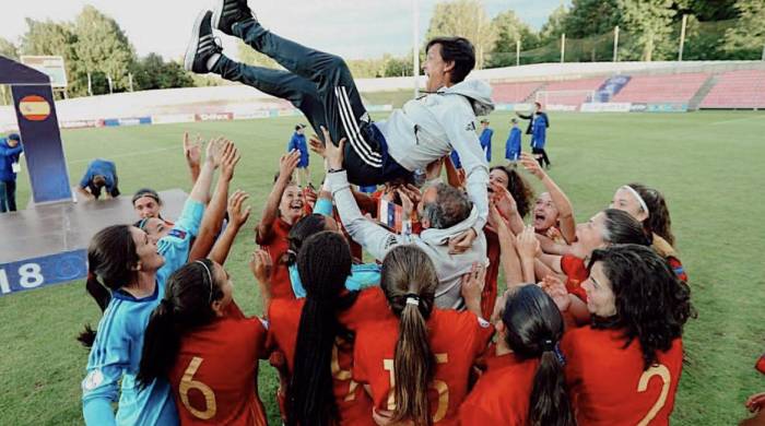
[[[520,359],[539,359],[529,399],[528,424],[575,425],[557,350],[563,336],[563,317],[555,303],[534,284],[510,292],[502,322],[508,346]]]

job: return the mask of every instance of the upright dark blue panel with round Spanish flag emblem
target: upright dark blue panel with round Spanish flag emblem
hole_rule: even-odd
[[[14,85],[13,103],[36,203],[72,199],[54,93],[49,85]]]

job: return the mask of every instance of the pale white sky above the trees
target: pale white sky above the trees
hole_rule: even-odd
[[[72,21],[85,4],[114,17],[139,56],[156,52],[167,59],[186,50],[193,20],[211,0],[0,0],[0,37],[19,44],[25,17]],[[544,24],[562,0],[483,0],[491,17],[515,10],[533,28]],[[569,2],[568,0],[565,0]],[[346,59],[404,55],[412,44],[414,0],[249,0],[258,20],[274,33]],[[437,0],[419,0],[420,37]],[[219,34],[229,56],[236,42]]]

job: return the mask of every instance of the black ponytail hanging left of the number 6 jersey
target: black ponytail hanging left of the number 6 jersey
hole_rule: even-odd
[[[174,321],[173,304],[162,299],[143,333],[143,352],[136,381],[144,388],[157,377],[167,377],[180,350],[180,333]]]

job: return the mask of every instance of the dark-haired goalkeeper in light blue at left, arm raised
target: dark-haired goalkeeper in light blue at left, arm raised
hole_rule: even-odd
[[[82,381],[86,425],[178,424],[167,381],[139,387],[136,376],[151,312],[161,303],[168,276],[187,262],[191,240],[199,234],[214,167],[205,162],[180,217],[158,240],[130,225],[106,227],[91,240],[86,286],[104,316],[97,333],[89,327],[79,339],[91,347]],[[117,401],[115,413],[111,404]]]

